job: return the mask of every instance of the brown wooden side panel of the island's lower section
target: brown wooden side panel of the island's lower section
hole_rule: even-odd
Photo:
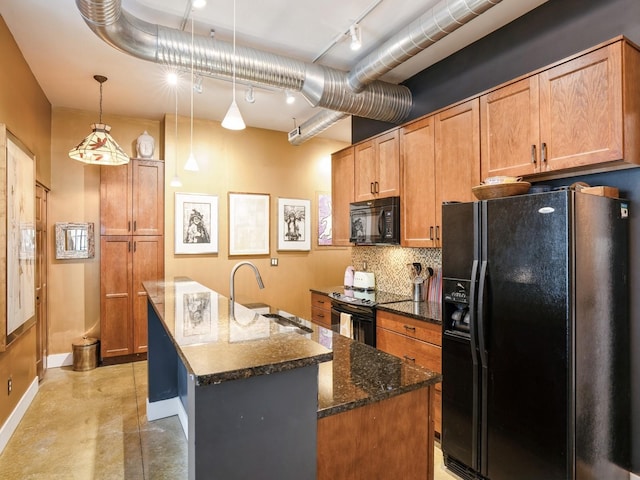
[[[318,419],[317,480],[433,480],[433,391]]]

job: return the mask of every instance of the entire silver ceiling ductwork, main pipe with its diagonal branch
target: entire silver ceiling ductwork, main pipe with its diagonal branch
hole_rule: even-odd
[[[400,123],[411,110],[407,87],[377,79],[501,0],[441,0],[351,73],[236,46],[236,78],[254,85],[299,91],[322,111],[289,134],[299,145],[346,115]],[[87,25],[106,43],[125,53],[177,68],[191,68],[191,34],[153,25],[122,10],[121,0],[76,0]],[[196,36],[194,71],[224,79],[233,75],[233,46]]]

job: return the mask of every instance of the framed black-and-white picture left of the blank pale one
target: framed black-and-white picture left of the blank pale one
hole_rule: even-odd
[[[218,197],[176,193],[176,254],[218,253]]]

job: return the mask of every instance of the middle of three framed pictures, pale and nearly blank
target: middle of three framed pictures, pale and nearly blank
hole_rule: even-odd
[[[269,254],[269,194],[229,192],[229,255]]]

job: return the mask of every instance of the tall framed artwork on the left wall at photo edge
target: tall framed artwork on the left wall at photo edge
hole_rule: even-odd
[[[0,351],[36,321],[35,274],[35,155],[4,124],[0,124],[0,249],[6,251],[6,269],[0,283],[6,299],[0,326]],[[6,302],[6,303],[5,303]],[[1,317],[0,317],[1,318]]]

